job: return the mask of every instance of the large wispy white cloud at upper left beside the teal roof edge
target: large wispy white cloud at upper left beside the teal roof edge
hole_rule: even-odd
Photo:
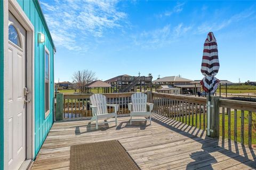
[[[126,19],[126,14],[118,11],[116,0],[55,0],[51,5],[46,2],[40,1],[54,43],[69,50],[84,49],[89,43],[86,40],[122,28]]]

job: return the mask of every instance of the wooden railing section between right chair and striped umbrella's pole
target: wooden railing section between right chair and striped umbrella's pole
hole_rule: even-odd
[[[206,98],[153,92],[154,113],[206,129]]]

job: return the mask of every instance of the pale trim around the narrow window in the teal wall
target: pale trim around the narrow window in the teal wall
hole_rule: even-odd
[[[48,61],[49,61],[49,94],[48,94],[48,96],[49,96],[49,110],[48,111],[45,111],[45,55],[46,55],[46,53],[48,54],[48,56],[49,56],[49,59],[48,59]],[[50,74],[50,72],[51,72],[51,67],[50,67],[50,58],[51,58],[51,55],[50,55],[50,52],[49,52],[49,49],[46,47],[46,45],[44,45],[44,119],[46,119],[48,116],[49,116],[49,114],[50,114],[50,104],[51,104],[51,100],[50,100],[50,95],[51,95],[51,74]]]

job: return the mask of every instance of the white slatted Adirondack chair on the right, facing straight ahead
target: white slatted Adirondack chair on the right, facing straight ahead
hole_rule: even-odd
[[[147,121],[151,124],[151,111],[154,104],[147,103],[147,95],[141,92],[135,93],[131,97],[132,103],[128,104],[128,109],[131,111],[131,124],[132,121]],[[147,105],[149,105],[149,112],[147,111]],[[145,119],[137,119],[133,117],[145,117]]]

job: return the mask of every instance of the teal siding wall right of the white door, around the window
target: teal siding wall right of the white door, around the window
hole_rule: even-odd
[[[35,155],[43,145],[47,133],[53,124],[54,112],[54,78],[53,78],[53,55],[54,45],[49,30],[42,15],[37,0],[18,0],[18,3],[26,13],[35,28]],[[38,32],[44,33],[45,43],[37,43]],[[44,117],[44,47],[50,52],[50,114]]]

